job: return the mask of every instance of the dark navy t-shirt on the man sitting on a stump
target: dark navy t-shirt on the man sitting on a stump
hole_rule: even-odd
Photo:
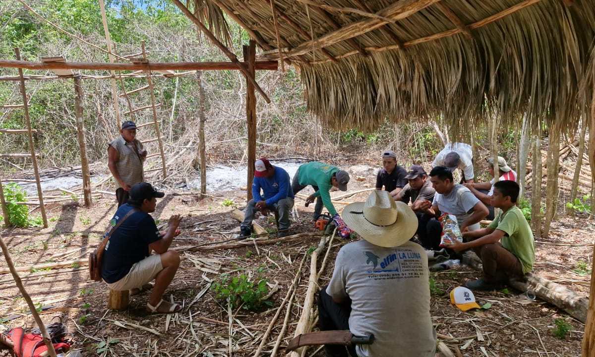
[[[132,208],[128,203],[121,205],[113,217],[115,224]],[[104,250],[101,277],[110,284],[125,277],[134,263],[149,256],[149,245],[159,239],[161,235],[153,217],[143,211],[134,212],[109,237]]]

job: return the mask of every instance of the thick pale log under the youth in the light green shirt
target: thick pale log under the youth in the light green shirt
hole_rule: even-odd
[[[481,259],[474,252],[466,252],[462,262],[483,271]],[[540,277],[537,274],[527,273],[525,274],[525,278],[527,278],[527,281],[510,280],[508,283],[521,292],[531,290],[539,299],[568,312],[568,314],[581,322],[587,321],[589,305],[587,297],[578,296],[574,291]]]

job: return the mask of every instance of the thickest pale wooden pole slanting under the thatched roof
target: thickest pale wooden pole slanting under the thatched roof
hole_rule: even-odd
[[[403,0],[389,5],[383,10],[378,11],[377,14],[392,18],[393,20],[402,20],[438,1],[440,0]],[[364,35],[364,33],[378,29],[378,27],[384,26],[387,23],[388,21],[379,20],[378,18],[366,18],[365,20],[355,21],[324,36],[318,37],[318,39],[306,41],[296,48],[290,49],[285,55],[287,57],[303,55],[313,49],[328,47],[343,40],[350,40],[353,37]]]

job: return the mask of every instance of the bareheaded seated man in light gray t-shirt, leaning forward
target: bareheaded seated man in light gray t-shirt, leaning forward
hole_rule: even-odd
[[[437,166],[430,171],[430,180],[436,195],[432,203],[423,201],[419,208],[438,218],[447,213],[456,216],[461,232],[478,230],[480,221],[487,216],[487,207],[478,200],[468,188],[453,182],[452,171],[447,167]],[[432,250],[440,249],[442,227],[439,221],[430,220],[426,227],[428,245]]]

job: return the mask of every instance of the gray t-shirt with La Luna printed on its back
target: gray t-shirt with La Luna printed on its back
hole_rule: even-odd
[[[375,336],[372,345],[356,346],[358,356],[434,357],[428,258],[417,243],[382,248],[359,240],[343,246],[327,293],[350,297],[352,334]]]

